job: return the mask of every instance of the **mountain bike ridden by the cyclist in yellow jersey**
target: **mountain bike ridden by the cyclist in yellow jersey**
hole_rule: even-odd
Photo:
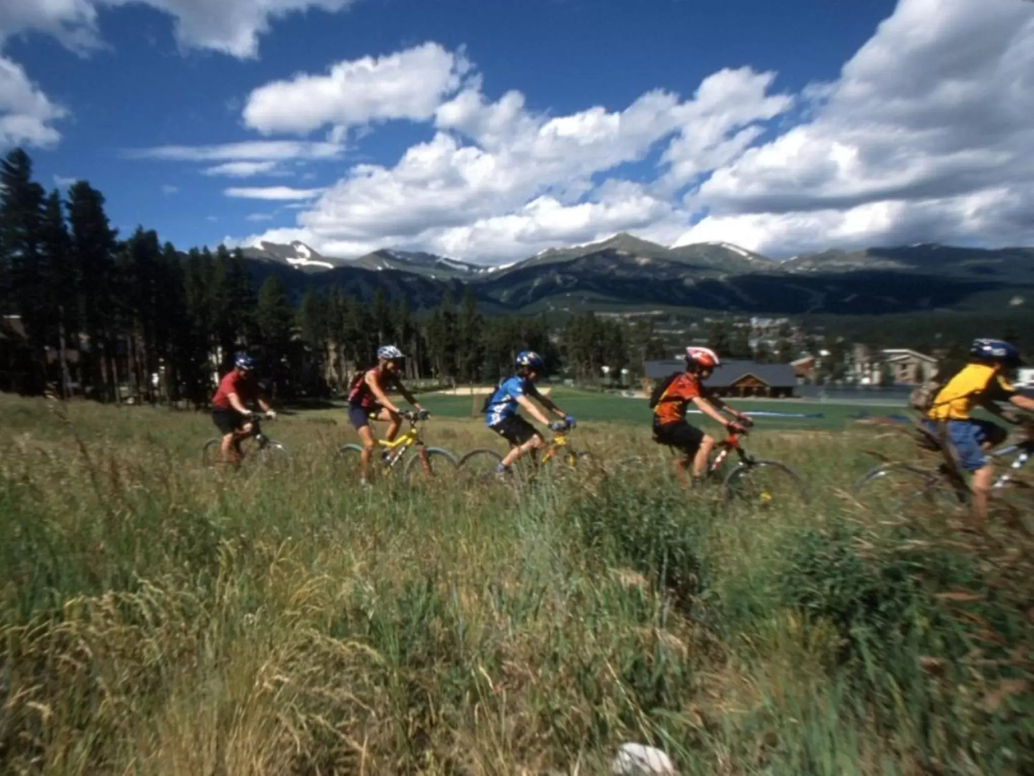
[[[1034,455],[1034,421],[1024,424],[1024,438],[990,450],[993,461],[1008,461],[1006,470],[992,483],[989,511],[1004,516],[1027,533],[1034,533],[1034,485],[1021,474]],[[862,475],[851,488],[851,494],[864,506],[886,508],[901,514],[917,507],[931,507],[940,514],[968,511],[972,491],[963,475],[953,452],[936,435],[917,424],[920,445],[941,453],[942,462],[933,468],[912,462],[895,461],[882,454],[866,451],[883,458],[875,469]]]

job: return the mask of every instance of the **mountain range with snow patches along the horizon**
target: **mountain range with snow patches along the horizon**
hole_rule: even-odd
[[[300,294],[338,286],[371,297],[383,289],[416,308],[470,287],[491,311],[571,312],[644,306],[799,315],[1026,307],[1034,248],[936,244],[826,250],[784,261],[730,243],[665,247],[629,234],[544,250],[508,265],[479,265],[402,250],[358,259],[321,256],[302,242],[244,249],[260,279],[279,274]]]

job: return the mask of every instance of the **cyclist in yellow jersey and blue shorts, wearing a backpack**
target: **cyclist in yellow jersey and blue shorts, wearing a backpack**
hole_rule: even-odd
[[[1034,412],[1034,399],[1016,393],[1007,372],[1021,364],[1020,351],[1001,339],[974,339],[970,360],[937,393],[924,423],[939,432],[941,424],[959,455],[963,469],[973,475],[973,516],[978,523],[987,518],[987,495],[994,468],[986,451],[1005,441],[1007,431],[990,420],[970,417],[976,407],[1004,418],[996,401]]]

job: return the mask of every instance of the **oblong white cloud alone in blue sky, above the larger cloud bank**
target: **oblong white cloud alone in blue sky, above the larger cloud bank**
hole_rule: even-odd
[[[390,119],[429,119],[469,69],[461,53],[424,43],[384,57],[338,62],[327,73],[299,74],[255,89],[245,123],[262,132],[342,131]]]

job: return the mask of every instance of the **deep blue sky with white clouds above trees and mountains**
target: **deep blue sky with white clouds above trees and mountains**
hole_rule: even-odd
[[[1034,242],[1022,0],[4,3],[0,147],[181,247]]]

